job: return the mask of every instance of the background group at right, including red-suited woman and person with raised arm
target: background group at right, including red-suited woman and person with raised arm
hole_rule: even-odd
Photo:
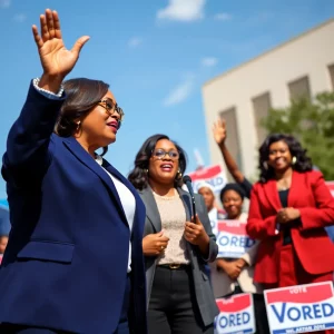
[[[218,234],[214,227],[219,219],[247,222],[247,234],[256,240],[240,258],[216,259],[210,266],[213,289],[216,298],[252,293],[257,333],[269,333],[264,289],[333,282],[334,199],[323,175],[293,136],[277,134],[265,139],[258,151],[259,180],[252,185],[226,146],[225,120],[216,121],[213,132],[235,180],[220,191],[225,212],[217,208],[208,183],[198,186],[213,229]],[[250,199],[248,215],[243,212],[244,197]]]

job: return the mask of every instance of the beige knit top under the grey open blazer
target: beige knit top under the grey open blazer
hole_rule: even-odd
[[[183,200],[175,190],[174,196],[160,196],[154,193],[161,219],[165,236],[169,237],[165,252],[158,259],[158,265],[188,264],[189,256],[184,238],[186,210]]]

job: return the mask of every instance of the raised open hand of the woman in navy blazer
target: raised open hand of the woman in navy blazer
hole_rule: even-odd
[[[73,69],[81,48],[89,40],[88,36],[79,38],[71,50],[67,50],[61,38],[58,13],[46,10],[40,16],[40,33],[32,26],[32,33],[38,47],[43,75],[39,86],[57,92],[63,78]],[[47,88],[46,88],[47,87]]]

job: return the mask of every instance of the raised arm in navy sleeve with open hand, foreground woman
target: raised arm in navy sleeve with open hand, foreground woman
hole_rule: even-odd
[[[89,39],[81,37],[71,50],[67,50],[58,13],[49,9],[40,16],[40,26],[41,33],[36,26],[32,26],[32,33],[43,73],[31,85],[22,111],[10,129],[3,156],[4,177],[10,168],[28,171],[37,165],[38,169],[42,169],[42,165],[48,164],[50,137],[65,99],[61,82],[75,67],[82,46]]]

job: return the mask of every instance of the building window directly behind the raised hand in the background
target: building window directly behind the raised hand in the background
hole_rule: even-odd
[[[238,136],[238,127],[237,127],[237,116],[236,116],[236,108],[228,108],[220,112],[220,118],[226,120],[226,146],[230,151],[232,156],[236,159],[239,168],[242,169],[242,154],[240,154],[240,146],[239,146],[239,136]],[[233,180],[229,173],[227,173],[227,178]]]

